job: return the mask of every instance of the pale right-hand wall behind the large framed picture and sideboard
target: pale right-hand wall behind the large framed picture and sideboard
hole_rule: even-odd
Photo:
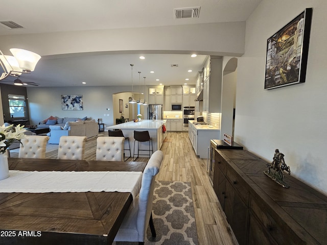
[[[313,8],[306,82],[264,90],[267,39]],[[246,22],[238,59],[235,140],[271,161],[285,154],[291,174],[327,193],[327,2],[263,0]],[[287,178],[287,177],[286,177]],[[292,187],[291,187],[292,188]]]

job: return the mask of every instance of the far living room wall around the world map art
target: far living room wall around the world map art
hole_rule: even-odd
[[[114,108],[112,94],[131,90],[128,86],[104,87],[31,87],[27,88],[31,124],[49,116],[59,117],[91,117],[102,118],[105,127],[114,125],[113,109],[119,111],[118,105]],[[61,109],[61,94],[82,94],[82,111],[63,111]],[[110,110],[107,111],[107,108]],[[125,111],[125,110],[124,110]],[[104,116],[109,114],[109,116]]]

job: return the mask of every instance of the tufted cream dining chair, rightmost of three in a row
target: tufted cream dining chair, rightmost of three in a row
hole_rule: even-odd
[[[96,158],[99,161],[124,161],[124,137],[98,137]]]

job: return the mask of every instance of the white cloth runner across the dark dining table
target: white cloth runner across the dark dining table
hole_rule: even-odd
[[[9,170],[0,192],[131,192],[133,202],[142,184],[138,171],[20,171]]]

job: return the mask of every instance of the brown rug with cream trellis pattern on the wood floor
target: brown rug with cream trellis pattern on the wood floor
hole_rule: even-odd
[[[191,245],[198,244],[192,201],[191,183],[179,181],[156,181],[152,216],[156,237],[147,230],[146,245]],[[135,242],[114,242],[128,245]]]

